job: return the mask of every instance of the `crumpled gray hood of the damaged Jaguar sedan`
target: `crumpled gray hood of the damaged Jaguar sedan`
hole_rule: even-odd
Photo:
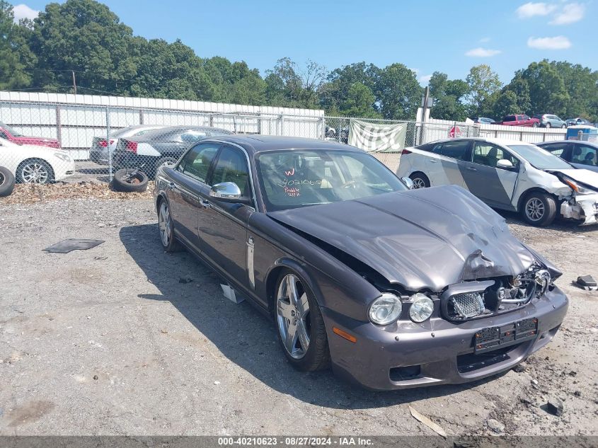
[[[386,193],[268,216],[325,241],[410,291],[515,276],[534,255],[505,220],[456,185]]]

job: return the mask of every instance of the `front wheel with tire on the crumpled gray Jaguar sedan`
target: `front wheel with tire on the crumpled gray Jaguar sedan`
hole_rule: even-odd
[[[330,350],[320,307],[304,281],[291,270],[278,277],[274,319],[287,360],[303,372],[328,367]]]

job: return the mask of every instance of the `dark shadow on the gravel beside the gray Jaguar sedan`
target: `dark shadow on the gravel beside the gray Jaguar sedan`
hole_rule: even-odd
[[[231,362],[272,389],[306,403],[343,409],[393,406],[455,394],[500,376],[468,384],[373,392],[336,378],[331,370],[298,372],[282,353],[273,321],[247,301],[233,304],[224,299],[220,277],[194,255],[165,253],[157,224],[123,227],[120,240],[160,291],[139,294],[140,298],[171,302]]]

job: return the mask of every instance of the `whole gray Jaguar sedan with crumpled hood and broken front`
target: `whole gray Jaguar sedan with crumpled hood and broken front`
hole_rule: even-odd
[[[272,316],[297,369],[402,389],[488,377],[546,345],[568,307],[561,272],[463,188],[407,182],[344,144],[230,135],[159,168],[154,195],[165,250]]]

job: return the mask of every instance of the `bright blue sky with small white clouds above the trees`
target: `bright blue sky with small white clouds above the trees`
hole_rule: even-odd
[[[43,0],[14,1],[17,16]],[[503,82],[544,58],[598,69],[597,0],[271,1],[105,0],[135,35],[180,38],[200,57],[244,60],[262,74],[288,56],[327,69],[352,62],[406,64],[464,79],[489,64]],[[143,6],[141,6],[143,5]],[[33,10],[33,11],[30,11]]]

